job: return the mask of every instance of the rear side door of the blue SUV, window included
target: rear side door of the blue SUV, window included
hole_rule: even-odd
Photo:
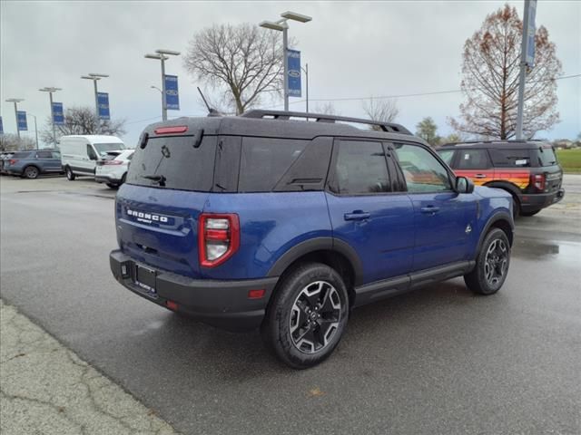
[[[333,237],[353,247],[364,284],[405,275],[413,256],[413,206],[393,189],[380,141],[335,140],[327,202]]]

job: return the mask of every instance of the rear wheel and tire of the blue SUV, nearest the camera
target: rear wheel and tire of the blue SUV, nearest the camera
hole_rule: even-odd
[[[348,318],[349,296],[341,276],[330,266],[308,263],[281,278],[261,333],[282,362],[307,369],[335,350]]]

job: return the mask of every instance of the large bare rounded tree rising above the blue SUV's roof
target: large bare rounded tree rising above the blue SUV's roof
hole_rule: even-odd
[[[219,91],[237,114],[258,104],[263,94],[282,88],[281,35],[255,24],[203,29],[193,35],[183,63]]]

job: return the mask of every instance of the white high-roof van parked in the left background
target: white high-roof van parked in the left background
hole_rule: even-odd
[[[125,150],[123,140],[102,135],[63,136],[59,147],[64,173],[71,181],[77,175],[94,177],[97,160],[103,160],[107,151]]]

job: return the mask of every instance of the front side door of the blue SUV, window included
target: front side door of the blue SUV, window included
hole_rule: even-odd
[[[394,143],[409,199],[413,203],[413,271],[465,260],[468,235],[476,217],[472,195],[452,189],[448,169],[426,148]]]

